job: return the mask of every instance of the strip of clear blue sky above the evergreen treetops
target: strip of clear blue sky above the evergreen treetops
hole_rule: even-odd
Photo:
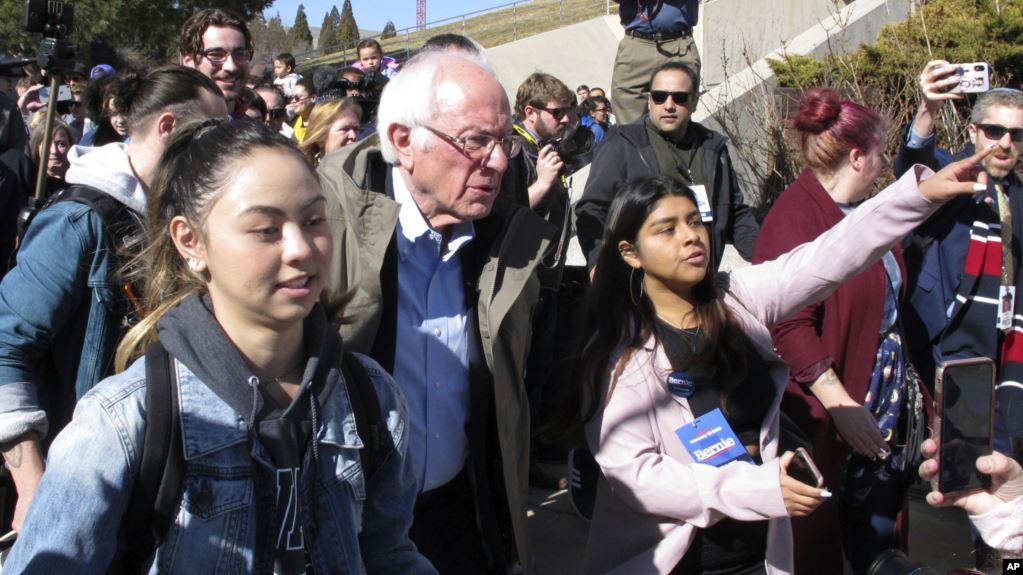
[[[469,12],[509,5],[515,0],[427,0],[427,24],[459,16]],[[330,7],[340,11],[345,0],[275,0],[263,11],[267,19],[280,12],[284,26],[292,26],[299,4],[306,7],[309,26],[318,27]],[[363,30],[383,30],[388,20],[394,21],[399,31],[415,26],[415,0],[352,0],[355,21]]]

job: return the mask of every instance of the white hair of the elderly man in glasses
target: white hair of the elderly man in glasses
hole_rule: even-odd
[[[452,89],[460,88],[457,82],[439,85],[440,72],[459,61],[479,67],[497,80],[493,68],[482,53],[429,50],[408,60],[401,72],[384,87],[380,107],[376,108],[376,132],[380,134],[381,153],[388,164],[398,163],[398,154],[390,138],[391,126],[412,129],[412,141],[420,149],[425,149],[430,143],[429,134],[415,128],[421,128],[433,120],[439,103],[447,104],[464,97],[464,92]]]

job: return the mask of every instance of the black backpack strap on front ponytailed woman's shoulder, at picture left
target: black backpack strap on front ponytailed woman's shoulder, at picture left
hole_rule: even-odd
[[[145,350],[145,437],[142,460],[119,534],[123,551],[110,573],[141,573],[174,520],[185,459],[181,406],[174,391],[171,356],[159,342]]]

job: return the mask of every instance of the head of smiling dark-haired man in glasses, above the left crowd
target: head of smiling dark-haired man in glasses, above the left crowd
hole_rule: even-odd
[[[181,63],[217,83],[231,118],[246,117],[241,92],[253,59],[253,39],[246,23],[219,8],[198,10],[181,28]]]

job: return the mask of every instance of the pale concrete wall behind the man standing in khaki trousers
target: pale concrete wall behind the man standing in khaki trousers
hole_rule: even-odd
[[[842,6],[837,13],[835,1]],[[854,50],[877,39],[885,24],[905,19],[911,3],[913,0],[710,0],[703,4],[700,26],[694,33],[701,46],[704,89],[708,90],[701,96],[694,119],[725,133],[755,133],[751,110],[771,101],[776,87],[765,57],[776,59],[785,53],[821,56],[832,51]],[[761,13],[768,4],[774,12]],[[513,102],[519,84],[536,71],[555,76],[572,90],[579,84],[587,84],[604,87],[610,95],[611,73],[622,34],[618,16],[604,16],[497,46],[487,53]],[[757,153],[739,154],[735,146],[731,151],[743,188],[756,189],[757,174],[763,171],[766,158]],[[584,168],[573,176],[574,201],[582,193],[588,173],[588,168]],[[584,263],[575,241],[570,246],[569,263]],[[722,267],[741,263],[729,250]]]

